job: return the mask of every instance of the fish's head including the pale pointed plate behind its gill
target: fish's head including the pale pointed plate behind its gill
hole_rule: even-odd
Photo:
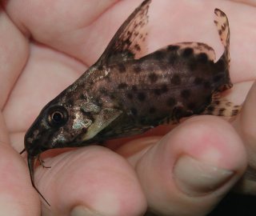
[[[121,110],[102,107],[88,99],[66,102],[63,98],[55,98],[27,130],[25,150],[30,157],[36,157],[45,150],[97,142],[94,136],[121,113]]]

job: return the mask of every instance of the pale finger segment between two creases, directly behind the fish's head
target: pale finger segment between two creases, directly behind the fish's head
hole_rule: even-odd
[[[83,70],[84,67],[74,59],[32,44],[30,58],[3,112],[8,129],[11,132],[26,131],[42,107],[74,82]]]

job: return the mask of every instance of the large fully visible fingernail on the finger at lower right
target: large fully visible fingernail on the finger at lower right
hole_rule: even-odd
[[[182,156],[174,166],[174,179],[185,194],[198,196],[208,194],[224,185],[234,171],[225,170],[200,162],[190,156]]]

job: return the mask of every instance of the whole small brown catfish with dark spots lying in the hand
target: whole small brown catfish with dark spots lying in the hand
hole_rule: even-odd
[[[49,102],[27,131],[33,186],[34,162],[45,150],[140,134],[193,114],[238,113],[238,106],[219,96],[232,86],[226,14],[214,11],[224,46],[217,62],[214,50],[201,42],[177,43],[142,56],[150,2],[130,14],[98,62]]]

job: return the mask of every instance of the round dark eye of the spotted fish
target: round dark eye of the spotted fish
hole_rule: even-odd
[[[48,114],[48,122],[51,126],[63,126],[67,122],[67,119],[67,111],[62,106],[54,107]]]

